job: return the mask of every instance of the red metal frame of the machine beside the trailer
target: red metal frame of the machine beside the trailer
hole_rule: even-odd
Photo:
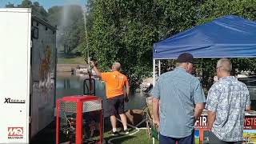
[[[60,102],[76,102],[77,110],[76,110],[76,136],[75,136],[75,143],[81,144],[82,143],[82,102],[94,101],[99,100],[102,103],[102,98],[98,98],[92,95],[77,95],[77,96],[68,96],[59,98],[56,102],[56,144],[59,143],[59,106]],[[103,125],[103,118],[102,118],[102,109],[100,110],[100,123]],[[102,128],[100,130],[100,143],[103,142],[103,131]]]

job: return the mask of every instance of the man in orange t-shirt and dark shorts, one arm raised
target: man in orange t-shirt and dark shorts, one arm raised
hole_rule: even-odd
[[[106,82],[107,111],[110,114],[110,122],[113,128],[112,135],[118,134],[116,127],[116,114],[120,115],[125,134],[129,134],[126,114],[124,114],[124,98],[128,97],[130,86],[126,75],[119,72],[121,64],[119,62],[114,62],[112,65],[112,71],[106,73],[101,73],[93,61],[90,61],[90,64],[93,66],[98,77],[102,78],[102,80]],[[126,91],[124,90],[124,87],[126,87]]]

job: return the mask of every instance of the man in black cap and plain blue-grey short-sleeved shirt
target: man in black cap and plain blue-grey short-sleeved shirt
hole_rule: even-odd
[[[151,91],[154,123],[160,126],[161,144],[194,143],[194,122],[206,102],[199,80],[191,75],[193,56],[184,53],[177,61],[178,67],[162,74]]]

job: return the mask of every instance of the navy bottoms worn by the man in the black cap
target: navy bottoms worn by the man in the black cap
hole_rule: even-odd
[[[160,134],[159,141],[160,144],[194,144],[194,130],[192,134],[185,138],[170,138]]]

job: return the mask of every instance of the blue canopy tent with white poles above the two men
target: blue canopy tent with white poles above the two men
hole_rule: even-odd
[[[256,22],[227,15],[155,42],[154,80],[156,60],[160,75],[161,59],[177,58],[184,52],[194,58],[255,58]]]

